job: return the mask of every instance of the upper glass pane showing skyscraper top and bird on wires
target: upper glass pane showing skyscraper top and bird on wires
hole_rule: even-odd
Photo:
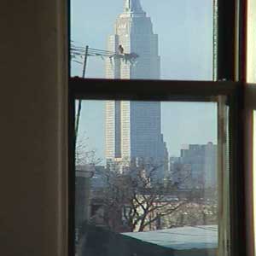
[[[72,76],[212,80],[216,6],[217,0],[72,0]]]

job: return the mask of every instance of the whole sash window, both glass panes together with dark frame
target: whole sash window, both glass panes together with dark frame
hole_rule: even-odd
[[[101,1],[90,12],[87,3],[87,23],[84,3],[72,2],[71,253],[243,252],[228,2]]]

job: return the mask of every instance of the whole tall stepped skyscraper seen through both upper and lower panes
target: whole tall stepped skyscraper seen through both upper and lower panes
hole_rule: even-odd
[[[136,53],[137,62],[122,58],[106,61],[107,79],[160,79],[158,36],[139,0],[125,0],[124,12],[108,38],[108,50]],[[160,102],[108,101],[106,103],[107,160],[164,162],[166,144],[161,135]],[[163,170],[163,168],[160,168]],[[162,173],[161,177],[164,176]]]

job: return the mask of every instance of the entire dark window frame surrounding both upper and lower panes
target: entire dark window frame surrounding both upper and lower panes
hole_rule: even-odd
[[[243,136],[244,84],[242,83],[245,75],[245,68],[242,66],[245,58],[245,45],[242,37],[244,35],[242,25],[246,19],[245,7],[246,4],[240,0],[218,0],[217,82],[69,79],[68,252],[70,256],[74,254],[75,99],[207,102],[211,101],[212,96],[218,95],[227,96],[230,100],[230,170],[232,172],[230,172],[230,248],[228,250],[230,255],[247,254],[247,243],[245,239],[242,239],[246,237],[247,222],[243,211],[246,209],[246,203],[244,154],[241,150],[245,146]],[[70,63],[69,59],[69,74]]]

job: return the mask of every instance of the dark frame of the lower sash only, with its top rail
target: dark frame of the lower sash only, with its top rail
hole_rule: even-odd
[[[70,79],[69,96],[69,241],[70,252],[74,252],[74,145],[75,145],[75,100],[139,100],[139,101],[179,101],[211,102],[217,96],[227,96],[230,106],[230,255],[241,255],[245,241],[239,238],[245,232],[242,120],[242,84],[239,82],[205,81],[148,81],[148,80],[108,80],[108,79]],[[234,139],[232,139],[234,138]],[[73,255],[72,253],[70,255]]]

